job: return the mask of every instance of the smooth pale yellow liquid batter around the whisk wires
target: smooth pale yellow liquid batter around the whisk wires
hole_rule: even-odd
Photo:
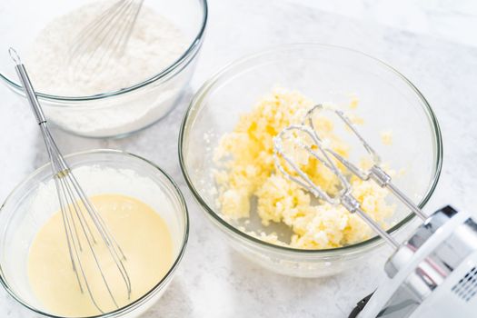
[[[104,275],[119,307],[150,291],[173,263],[173,243],[164,220],[147,204],[122,194],[100,194],[90,198],[110,232],[123,249],[124,266],[131,279],[128,299],[124,281],[105,245],[96,245]],[[98,275],[85,239],[82,263],[94,298],[104,312],[115,309]],[[63,218],[55,213],[35,236],[30,247],[28,274],[32,289],[45,309],[62,316],[91,316],[100,313],[86,291],[80,292],[68,253]]]

